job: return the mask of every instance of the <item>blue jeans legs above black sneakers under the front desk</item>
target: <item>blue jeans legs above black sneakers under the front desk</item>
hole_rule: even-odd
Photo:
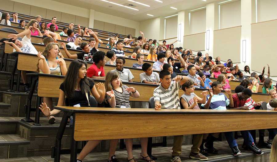
[[[251,134],[248,130],[240,131],[243,136],[244,141],[246,142],[247,146],[251,146],[252,142],[254,142]],[[234,138],[233,132],[224,132],[226,140],[230,147],[238,146],[237,141]]]

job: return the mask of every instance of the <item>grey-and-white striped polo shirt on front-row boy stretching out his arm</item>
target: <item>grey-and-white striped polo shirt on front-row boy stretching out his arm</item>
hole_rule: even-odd
[[[168,89],[164,89],[160,85],[154,90],[154,101],[159,101],[162,109],[180,109],[179,89],[181,86],[176,81],[171,81]]]

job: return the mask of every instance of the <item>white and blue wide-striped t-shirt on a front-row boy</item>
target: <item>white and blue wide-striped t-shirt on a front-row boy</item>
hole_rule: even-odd
[[[210,95],[207,95],[206,103],[208,102],[209,98]],[[204,107],[206,103],[202,104],[201,106]],[[226,95],[219,93],[218,95],[213,95],[209,109],[226,110],[226,106],[229,104],[230,100],[226,97]]]

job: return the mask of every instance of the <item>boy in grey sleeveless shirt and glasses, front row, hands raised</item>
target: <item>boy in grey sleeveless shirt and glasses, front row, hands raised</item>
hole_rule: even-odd
[[[182,109],[200,110],[197,102],[200,102],[202,104],[206,103],[206,96],[208,91],[202,92],[203,98],[198,97],[195,93],[193,93],[195,87],[194,81],[192,79],[188,80],[186,83],[183,84],[182,90],[185,92],[180,98],[180,105]],[[179,139],[179,141],[183,141],[183,136],[180,136],[178,138],[181,138]],[[200,153],[200,146],[202,144],[202,140],[203,134],[193,135],[193,145],[191,147],[191,153],[189,155],[191,159],[208,160],[206,156]],[[179,148],[180,147],[182,147],[182,142],[179,143]]]

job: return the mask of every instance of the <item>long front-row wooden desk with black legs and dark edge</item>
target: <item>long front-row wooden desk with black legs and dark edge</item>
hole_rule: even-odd
[[[275,128],[277,124],[277,112],[273,110],[154,110],[66,106],[55,106],[55,109],[65,112],[52,151],[55,162],[60,160],[62,135],[71,115],[71,162],[77,158],[77,141],[266,129]],[[178,123],[178,129],[172,123]]]

